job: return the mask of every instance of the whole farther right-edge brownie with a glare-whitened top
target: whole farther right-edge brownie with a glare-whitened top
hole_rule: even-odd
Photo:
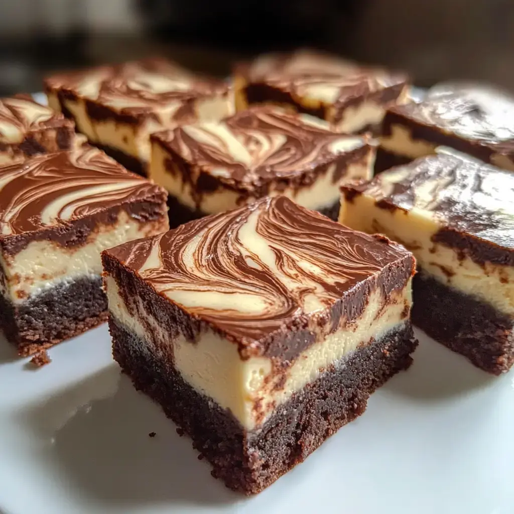
[[[388,109],[375,170],[448,146],[514,171],[514,100],[478,86],[440,85],[420,101]]]

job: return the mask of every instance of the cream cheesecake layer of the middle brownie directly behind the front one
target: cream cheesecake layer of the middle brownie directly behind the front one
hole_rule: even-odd
[[[348,144],[354,143],[350,141]],[[351,148],[348,148],[351,150]],[[373,175],[375,150],[370,148],[361,159],[340,164],[333,162],[320,170],[312,183],[305,185],[288,185],[283,181],[271,180],[268,196],[286,196],[307,209],[320,210],[333,206],[339,200],[338,185],[356,179],[370,179]],[[340,167],[345,169],[341,174]],[[339,169],[338,169],[339,167]],[[339,179],[342,175],[342,178]],[[235,191],[220,187],[214,191],[205,191],[201,195],[195,190],[191,181],[185,181],[183,174],[174,164],[170,153],[159,143],[152,143],[152,159],[149,176],[164,189],[176,197],[182,205],[191,210],[206,214],[215,214],[241,205],[252,203],[257,197],[246,191]]]

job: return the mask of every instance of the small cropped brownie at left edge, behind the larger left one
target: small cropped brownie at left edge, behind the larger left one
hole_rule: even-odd
[[[74,123],[30,95],[0,98],[0,166],[69,150],[74,140]]]

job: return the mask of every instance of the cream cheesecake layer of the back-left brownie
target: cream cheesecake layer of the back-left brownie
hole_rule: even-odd
[[[125,99],[126,103],[127,100]],[[56,111],[61,105],[56,94],[48,94],[48,104]],[[64,106],[72,114],[77,130],[85,134],[91,143],[111,146],[126,155],[139,159],[143,163],[150,161],[150,134],[173,128],[177,125],[174,115],[182,106],[181,102],[173,102],[154,108],[156,119],[148,116],[144,122],[121,123],[114,120],[94,120],[87,114],[86,102],[83,99],[64,100]],[[193,116],[199,120],[217,120],[232,114],[232,99],[228,97],[203,98],[195,101]]]

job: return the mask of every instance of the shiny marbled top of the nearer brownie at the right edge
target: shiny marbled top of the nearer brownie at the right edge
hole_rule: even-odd
[[[350,200],[363,193],[384,208],[423,212],[439,226],[514,249],[514,174],[499,168],[440,154],[342,189]]]

